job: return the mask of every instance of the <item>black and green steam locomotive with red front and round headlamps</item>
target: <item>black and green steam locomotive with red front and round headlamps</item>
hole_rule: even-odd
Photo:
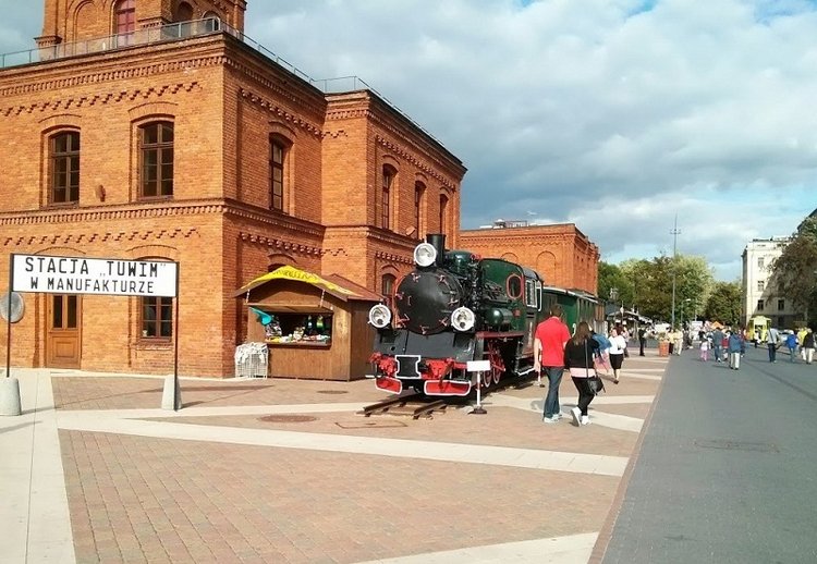
[[[534,332],[547,315],[542,279],[503,259],[446,250],[444,244],[444,235],[427,235],[392,307],[369,310],[377,329],[370,360],[381,390],[465,396],[480,373],[485,389],[504,375],[533,370]],[[489,371],[467,371],[468,360],[484,359]]]

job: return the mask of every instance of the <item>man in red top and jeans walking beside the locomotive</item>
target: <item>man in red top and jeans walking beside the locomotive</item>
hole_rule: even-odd
[[[557,422],[562,414],[559,405],[559,384],[562,382],[564,371],[564,345],[570,340],[568,326],[562,321],[562,306],[554,304],[550,308],[550,317],[536,328],[534,340],[534,370],[539,375],[541,371],[548,377],[548,395],[545,399],[545,410],[542,417],[545,422]]]

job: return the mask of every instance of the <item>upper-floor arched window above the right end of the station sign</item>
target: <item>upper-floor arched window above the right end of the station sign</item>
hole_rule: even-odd
[[[150,198],[173,195],[173,123],[154,122],[139,127],[141,191]]]

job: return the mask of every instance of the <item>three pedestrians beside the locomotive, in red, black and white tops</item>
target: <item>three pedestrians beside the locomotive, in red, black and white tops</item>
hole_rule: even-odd
[[[598,377],[597,366],[606,367],[606,359],[609,358],[613,383],[618,384],[626,345],[622,328],[614,328],[607,339],[595,333],[586,321],[580,321],[571,335],[563,320],[562,306],[554,304],[550,308],[550,317],[537,326],[534,340],[534,370],[539,375],[539,385],[545,387],[544,376],[548,387],[542,420],[556,424],[562,417],[559,385],[568,369],[578,392],[577,405],[571,409],[573,422],[580,427],[589,425],[587,408],[598,391],[594,389]]]

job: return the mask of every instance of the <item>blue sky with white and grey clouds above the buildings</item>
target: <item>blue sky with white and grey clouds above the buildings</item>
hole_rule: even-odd
[[[0,52],[42,0],[0,0]],[[462,228],[575,223],[618,263],[737,280],[817,208],[815,0],[248,0],[246,35],[355,75],[467,167]]]

